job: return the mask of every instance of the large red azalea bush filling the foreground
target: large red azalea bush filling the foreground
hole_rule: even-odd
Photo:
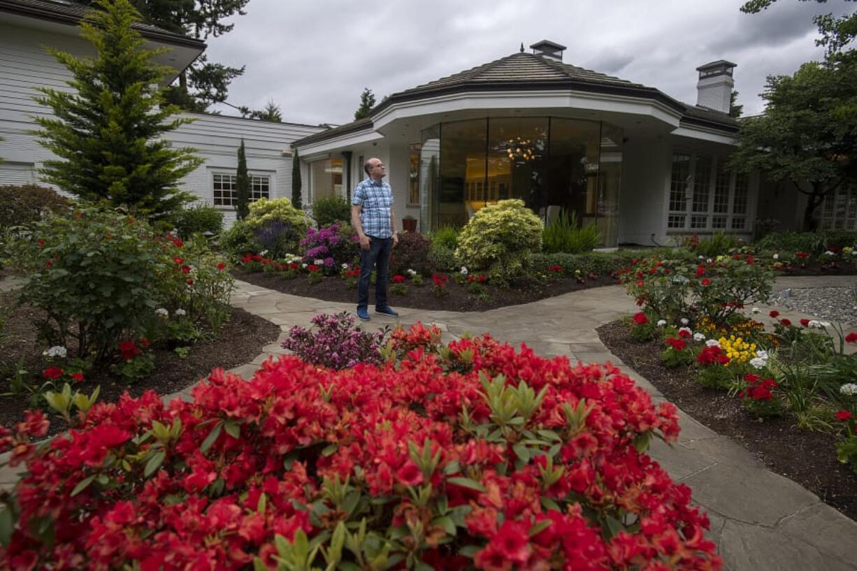
[[[12,569],[716,569],[708,519],[641,452],[674,406],[610,365],[488,337],[393,336],[390,362],[215,370],[192,402],[99,404],[35,448]],[[430,351],[437,349],[437,352]],[[400,360],[393,358],[398,352]],[[279,559],[278,559],[279,558]]]

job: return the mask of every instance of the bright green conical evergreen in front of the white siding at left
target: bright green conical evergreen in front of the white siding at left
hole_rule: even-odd
[[[81,35],[97,51],[77,58],[49,48],[73,75],[73,93],[39,87],[35,99],[53,117],[33,117],[39,142],[59,159],[39,169],[45,181],[90,201],[128,205],[150,218],[192,200],[177,183],[201,165],[193,149],[172,149],[164,135],[189,119],[171,118],[177,108],[161,105],[158,82],[168,69],[153,63],[167,48],[147,50],[132,29],[140,14],[128,0],[99,0],[81,23]]]

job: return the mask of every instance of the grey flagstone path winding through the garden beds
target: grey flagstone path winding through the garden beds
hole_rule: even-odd
[[[787,287],[853,284],[851,276],[781,278],[776,289]],[[280,339],[263,347],[251,363],[232,371],[249,378],[267,358],[285,350],[279,343],[294,325],[309,326],[318,313],[354,310],[353,304],[338,304],[273,292],[246,282],[237,282],[232,304],[278,324]],[[770,324],[770,308],[756,316]],[[797,322],[805,315],[780,310]],[[481,313],[399,309],[399,319],[372,316],[368,328],[397,322],[405,327],[416,322],[435,323],[445,340],[464,333],[489,332],[494,338],[518,345],[525,342],[535,352],[565,355],[584,362],[607,362],[620,366],[655,400],[662,394],[615,358],[598,339],[595,328],[636,310],[623,289],[611,285],[531,304]],[[812,316],[806,316],[812,317]],[[164,397],[190,398],[190,389]],[[672,447],[653,441],[652,458],[678,482],[689,485],[693,499],[709,514],[710,538],[718,545],[729,571],[782,571],[806,569],[838,571],[857,569],[857,523],[830,508],[818,496],[788,478],[770,472],[740,445],[705,428],[680,412],[681,436]],[[14,483],[15,474],[0,471],[0,486]]]

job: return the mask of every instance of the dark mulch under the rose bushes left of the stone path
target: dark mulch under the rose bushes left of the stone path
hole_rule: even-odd
[[[9,372],[15,370],[21,356],[24,357],[24,369],[43,369],[45,364],[42,352],[45,347],[36,340],[36,329],[33,325],[41,316],[39,310],[28,305],[15,308],[14,296],[8,293],[0,295],[0,304],[12,309],[0,337],[0,394],[3,394],[9,392]],[[179,358],[176,352],[156,346],[156,368],[146,379],[128,384],[111,375],[110,371],[93,371],[74,388],[82,393],[92,394],[95,387],[100,386],[99,402],[115,402],[125,391],[131,396],[139,396],[147,390],[158,394],[175,393],[195,384],[213,369],[231,369],[249,363],[261,352],[263,346],[277,340],[279,333],[279,325],[233,308],[231,320],[220,330],[218,337],[198,341],[191,347],[186,358]],[[30,408],[30,405],[25,396],[0,396],[0,425],[8,427],[19,422],[27,408]],[[51,434],[65,428],[67,427],[62,418],[51,418]]]

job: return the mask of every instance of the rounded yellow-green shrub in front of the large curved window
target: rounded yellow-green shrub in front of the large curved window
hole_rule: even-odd
[[[455,257],[471,270],[499,281],[523,274],[530,255],[542,249],[542,220],[524,201],[499,201],[480,208],[458,236]]]

